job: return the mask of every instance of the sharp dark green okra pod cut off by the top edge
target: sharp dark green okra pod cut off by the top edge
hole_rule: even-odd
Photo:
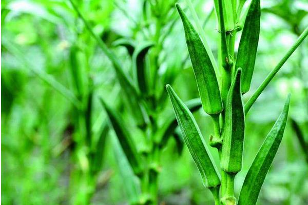
[[[253,0],[249,6],[239,44],[235,68],[242,68],[242,93],[249,91],[255,68],[260,34],[260,0]]]

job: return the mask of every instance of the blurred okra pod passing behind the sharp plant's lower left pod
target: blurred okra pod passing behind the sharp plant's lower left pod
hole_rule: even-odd
[[[190,112],[195,112],[201,108],[201,100],[200,98],[195,98],[188,100],[185,105],[190,110]],[[175,132],[175,129],[178,127],[178,122],[175,114],[172,112],[166,120],[163,122],[163,126],[155,135],[155,140],[159,144],[161,148],[166,146],[168,139]]]

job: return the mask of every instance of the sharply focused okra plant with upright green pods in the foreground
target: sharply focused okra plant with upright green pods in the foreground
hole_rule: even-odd
[[[186,2],[191,7],[190,0]],[[193,16],[195,15],[195,29],[180,5],[176,4],[183,23],[202,108],[213,119],[214,134],[209,137],[209,145],[218,150],[221,169],[215,165],[194,116],[170,85],[167,85],[166,89],[184,141],[202,176],[203,185],[213,193],[215,204],[256,204],[284,133],[290,95],[287,96],[281,114],[249,168],[239,197],[236,198],[234,183],[237,173],[242,170],[245,115],[288,57],[308,35],[306,28],[244,103],[243,95],[250,89],[255,67],[261,16],[260,0],[252,0],[247,10],[242,11],[244,3],[244,0],[214,0],[220,35],[218,67],[207,45],[206,35],[200,27],[198,17],[191,10]],[[236,34],[240,30],[242,34],[239,47],[235,49]]]

